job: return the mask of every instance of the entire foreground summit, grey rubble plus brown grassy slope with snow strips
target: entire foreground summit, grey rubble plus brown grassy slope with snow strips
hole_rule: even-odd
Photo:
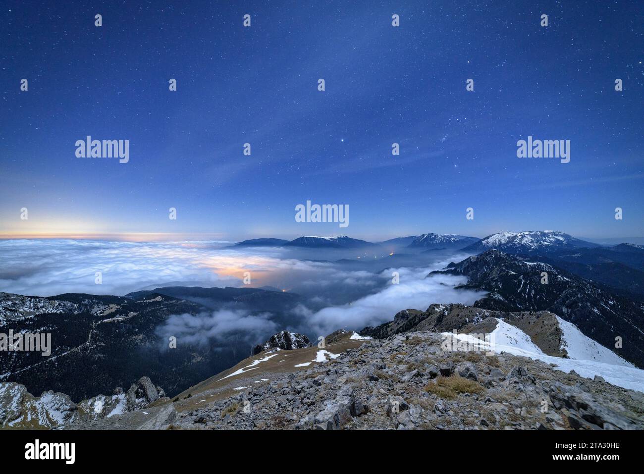
[[[120,397],[99,395],[79,404],[68,411],[68,419],[50,427],[644,428],[644,393],[614,386],[601,377],[565,374],[541,361],[507,353],[444,350],[436,332],[361,340],[355,333],[340,331],[327,341],[325,349],[267,350],[172,400],[162,397],[149,379],[142,380]],[[18,384],[13,385],[15,390]],[[0,424],[10,421],[6,404],[2,408],[7,393],[6,387],[0,393]],[[109,403],[121,398],[129,400],[130,411],[109,414],[114,410]],[[4,426],[21,427],[15,422]]]

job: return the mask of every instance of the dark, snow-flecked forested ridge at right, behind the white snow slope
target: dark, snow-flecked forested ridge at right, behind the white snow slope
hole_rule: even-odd
[[[542,284],[542,272],[548,283]],[[431,274],[468,276],[463,288],[486,290],[475,307],[501,311],[547,310],[621,357],[644,366],[644,303],[601,289],[565,270],[498,250],[450,263]],[[615,348],[616,338],[623,347]]]

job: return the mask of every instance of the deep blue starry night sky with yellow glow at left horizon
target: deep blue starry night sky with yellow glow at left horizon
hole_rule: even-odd
[[[644,236],[641,2],[0,8],[4,234]],[[77,158],[87,135],[129,140],[129,162]],[[517,158],[529,135],[571,161]],[[306,200],[350,225],[295,222]]]

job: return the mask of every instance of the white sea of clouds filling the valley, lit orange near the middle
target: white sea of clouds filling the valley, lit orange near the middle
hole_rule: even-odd
[[[393,319],[406,308],[431,303],[471,304],[482,294],[457,290],[465,278],[427,276],[464,254],[419,258],[418,267],[381,269],[372,260],[365,269],[336,263],[334,252],[273,247],[227,248],[222,242],[104,242],[93,240],[0,241],[0,291],[30,296],[62,293],[124,295],[164,286],[243,287],[268,285],[299,294],[302,299],[280,318],[270,312],[217,308],[203,314],[177,314],[159,334],[185,341],[223,340],[244,332],[261,340],[279,330],[328,334],[339,328],[359,330]],[[423,260],[424,259],[424,260]],[[95,283],[96,272],[102,284]],[[392,283],[393,272],[399,283]]]

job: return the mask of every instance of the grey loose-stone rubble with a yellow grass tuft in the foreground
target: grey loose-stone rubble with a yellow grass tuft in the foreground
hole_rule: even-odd
[[[429,332],[366,341],[327,363],[272,375],[234,397],[180,413],[171,427],[644,428],[641,392],[526,357],[446,352],[440,335]]]

